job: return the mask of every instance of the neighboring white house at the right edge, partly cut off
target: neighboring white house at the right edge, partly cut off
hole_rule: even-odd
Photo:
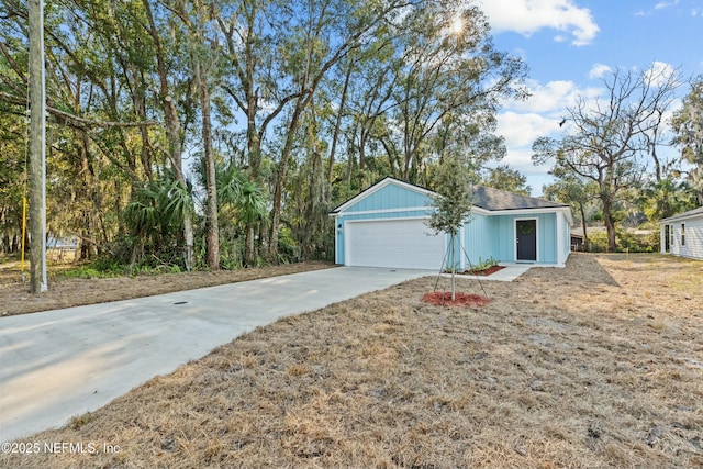
[[[703,206],[659,221],[661,252],[703,259]]]

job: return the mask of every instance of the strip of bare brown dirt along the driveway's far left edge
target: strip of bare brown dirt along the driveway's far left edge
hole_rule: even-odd
[[[55,270],[62,267],[56,266]],[[60,278],[49,272],[48,291],[32,294],[29,283],[22,281],[19,263],[4,261],[0,264],[0,316],[150,297],[331,267],[334,267],[331,263],[309,261],[217,272],[142,275],[108,279]]]

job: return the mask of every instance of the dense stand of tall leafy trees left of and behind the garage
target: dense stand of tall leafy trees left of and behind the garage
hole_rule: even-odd
[[[0,11],[10,250],[27,4]],[[335,204],[383,176],[431,186],[448,149],[478,175],[504,154],[500,100],[525,97],[524,64],[460,0],[59,1],[45,51],[49,234],[132,265],[330,257]]]

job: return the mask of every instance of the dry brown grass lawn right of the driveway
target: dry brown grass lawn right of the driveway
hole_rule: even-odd
[[[473,310],[422,302],[434,281],[260,327],[25,438],[116,454],[0,467],[703,466],[703,263],[574,255],[484,281]]]

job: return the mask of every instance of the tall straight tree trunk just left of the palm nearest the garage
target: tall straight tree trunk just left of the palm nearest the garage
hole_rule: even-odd
[[[208,266],[220,270],[220,225],[217,223],[217,187],[215,182],[215,159],[212,152],[212,122],[210,118],[210,89],[203,71],[201,58],[196,59],[196,80],[200,91],[202,109],[202,145],[205,159],[205,189],[208,192]]]

